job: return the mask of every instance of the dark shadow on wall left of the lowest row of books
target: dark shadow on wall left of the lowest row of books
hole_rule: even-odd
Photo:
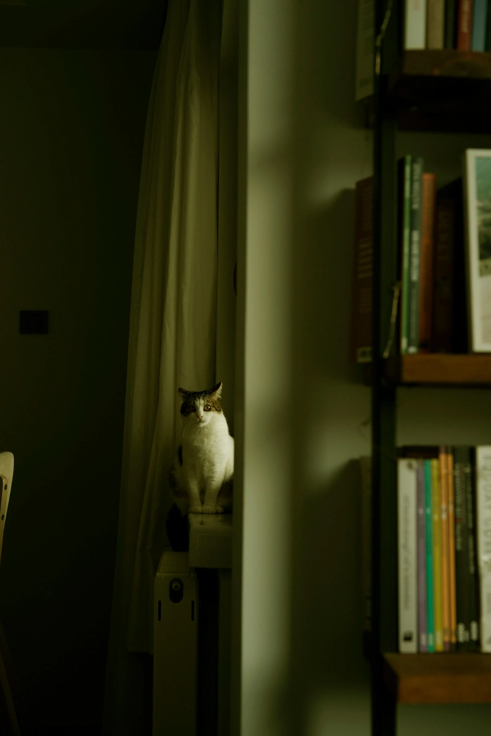
[[[300,559],[302,669],[310,690],[323,684],[367,685],[362,654],[361,481],[349,461],[305,498]]]

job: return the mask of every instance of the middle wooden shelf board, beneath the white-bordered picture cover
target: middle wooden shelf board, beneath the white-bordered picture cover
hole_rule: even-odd
[[[386,361],[390,383],[434,386],[491,386],[491,353],[395,355]]]

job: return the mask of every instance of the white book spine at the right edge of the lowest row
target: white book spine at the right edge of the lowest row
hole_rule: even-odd
[[[476,511],[481,651],[491,652],[491,447],[476,447]]]

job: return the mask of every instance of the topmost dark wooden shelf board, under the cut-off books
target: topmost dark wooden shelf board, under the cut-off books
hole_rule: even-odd
[[[491,53],[404,52],[389,98],[402,130],[491,132]]]

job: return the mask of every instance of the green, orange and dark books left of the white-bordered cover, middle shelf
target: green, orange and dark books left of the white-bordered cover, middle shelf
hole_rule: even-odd
[[[400,353],[467,352],[462,180],[399,163]]]

